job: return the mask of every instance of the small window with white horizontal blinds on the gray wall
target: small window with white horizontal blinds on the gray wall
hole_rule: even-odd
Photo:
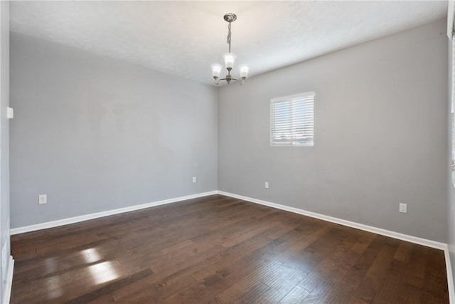
[[[270,145],[312,146],[314,92],[270,100]]]

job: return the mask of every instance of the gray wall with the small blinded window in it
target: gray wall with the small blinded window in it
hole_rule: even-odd
[[[220,88],[218,189],[446,242],[445,31],[429,23]],[[270,99],[309,91],[314,147],[270,147]]]

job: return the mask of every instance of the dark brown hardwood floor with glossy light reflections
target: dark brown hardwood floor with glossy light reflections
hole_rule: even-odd
[[[220,195],[11,242],[11,303],[449,303],[443,251]]]

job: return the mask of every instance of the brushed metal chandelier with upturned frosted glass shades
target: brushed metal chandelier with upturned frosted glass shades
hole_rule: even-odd
[[[215,85],[218,85],[220,83],[220,80],[225,80],[228,84],[232,81],[238,81],[240,85],[243,85],[245,83],[245,79],[248,77],[248,70],[250,70],[250,67],[246,64],[241,64],[239,65],[239,70],[240,70],[240,79],[233,78],[232,75],[230,75],[230,72],[232,71],[232,68],[234,67],[234,61],[235,58],[237,57],[235,53],[230,52],[230,40],[231,40],[231,33],[230,33],[230,23],[234,22],[237,20],[237,16],[232,13],[225,14],[224,16],[225,21],[229,23],[228,25],[228,45],[229,45],[229,52],[225,53],[223,55],[223,58],[225,59],[225,67],[226,70],[228,70],[228,75],[225,75],[225,78],[220,79],[220,73],[221,69],[223,68],[223,65],[220,65],[220,63],[213,63],[210,65],[212,68],[212,76],[213,79],[215,80]]]

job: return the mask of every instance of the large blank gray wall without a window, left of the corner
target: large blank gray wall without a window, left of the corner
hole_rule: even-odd
[[[217,189],[209,85],[11,33],[11,105],[12,228]]]

